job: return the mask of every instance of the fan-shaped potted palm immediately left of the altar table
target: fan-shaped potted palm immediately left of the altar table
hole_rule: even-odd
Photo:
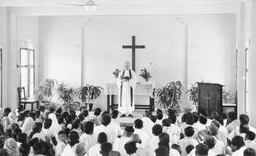
[[[77,90],[77,95],[84,103],[84,107],[89,107],[89,111],[91,111],[93,102],[101,95],[102,90],[103,89],[100,86],[86,84],[84,87]]]

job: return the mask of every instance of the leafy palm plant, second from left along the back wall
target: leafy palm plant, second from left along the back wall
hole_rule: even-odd
[[[74,101],[75,90],[68,88],[67,84],[61,83],[58,85],[57,92],[59,99],[62,101],[61,107],[65,111],[76,111],[79,109],[79,102]]]

